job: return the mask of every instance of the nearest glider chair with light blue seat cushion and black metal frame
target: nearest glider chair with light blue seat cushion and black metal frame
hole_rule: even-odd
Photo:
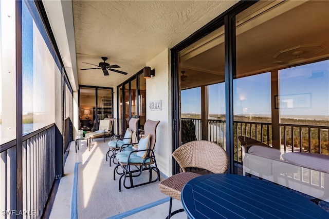
[[[116,174],[120,175],[119,178],[119,191],[121,191],[121,180],[123,178],[123,186],[126,189],[134,188],[137,186],[142,186],[156,181],[160,181],[160,171],[157,167],[154,148],[156,142],[156,128],[160,121],[148,120],[145,122],[144,137],[140,138],[138,142],[137,150],[133,151],[121,151],[116,154],[116,159],[118,161],[117,166],[114,169],[114,180]],[[131,143],[133,144],[133,143]],[[122,170],[119,172],[118,168]],[[147,182],[134,184],[133,178],[138,177],[142,174],[144,170],[149,171],[149,180]],[[152,179],[153,171],[156,172],[157,177]],[[130,179],[130,186],[126,185],[126,178]]]

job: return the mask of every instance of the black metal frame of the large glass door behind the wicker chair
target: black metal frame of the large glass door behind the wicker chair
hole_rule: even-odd
[[[225,29],[225,90],[226,90],[226,143],[229,167],[227,173],[236,173],[234,168],[234,136],[233,136],[233,78],[236,75],[236,49],[235,49],[235,15],[247,9],[258,1],[239,2],[232,8],[219,15],[213,21],[200,28],[189,38],[171,49],[171,78],[172,78],[172,151],[180,146],[180,106],[179,106],[179,51],[185,49],[212,31],[224,26]],[[179,172],[179,165],[172,160],[172,173]]]

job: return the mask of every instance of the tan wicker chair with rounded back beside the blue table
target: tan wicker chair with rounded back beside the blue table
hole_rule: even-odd
[[[202,168],[211,173],[225,173],[228,168],[226,151],[213,142],[188,142],[177,148],[172,155],[182,169],[182,172],[159,183],[160,191],[170,196],[169,214],[167,218],[184,211],[184,209],[179,209],[171,212],[172,200],[176,198],[176,200],[180,201],[180,193],[185,184],[201,175],[196,172],[188,172],[188,168]]]

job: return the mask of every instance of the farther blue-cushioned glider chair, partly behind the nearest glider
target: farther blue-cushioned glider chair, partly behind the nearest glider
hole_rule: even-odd
[[[139,118],[131,118],[129,121],[129,128],[126,129],[123,135],[114,135],[111,137],[111,141],[108,142],[108,151],[106,153],[106,161],[107,157],[109,157],[109,166],[111,166],[111,158],[114,164],[114,158],[117,152],[121,151],[122,148],[127,147],[132,142],[133,136],[134,140],[136,139],[136,130],[138,125]],[[134,134],[134,135],[133,135]],[[136,142],[136,140],[135,140]],[[109,153],[112,152],[110,156]]]

